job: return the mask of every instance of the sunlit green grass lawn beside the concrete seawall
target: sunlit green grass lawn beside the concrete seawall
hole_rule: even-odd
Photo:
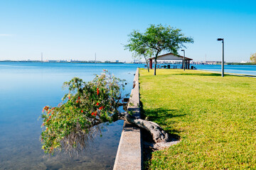
[[[181,137],[149,169],[256,169],[256,79],[197,70],[140,69],[148,120]]]

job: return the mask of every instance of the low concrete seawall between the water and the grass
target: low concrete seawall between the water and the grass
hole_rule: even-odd
[[[139,110],[139,69],[134,76],[134,88],[130,94],[127,111],[140,118]],[[134,125],[124,122],[124,128],[114,161],[114,170],[142,169],[142,134]]]

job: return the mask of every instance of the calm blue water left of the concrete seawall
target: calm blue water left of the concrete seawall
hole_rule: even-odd
[[[137,67],[143,64],[4,63],[0,62],[0,169],[112,169],[122,132],[122,120],[96,137],[87,154],[67,157],[45,155],[41,150],[43,106],[57,106],[62,85],[73,77],[85,81],[108,69],[132,89]]]

